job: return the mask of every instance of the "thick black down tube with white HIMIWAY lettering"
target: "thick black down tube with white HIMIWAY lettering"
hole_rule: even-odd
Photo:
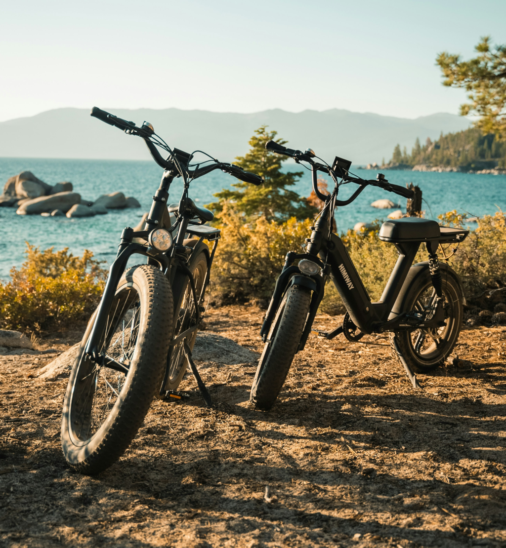
[[[331,266],[332,281],[351,319],[361,331],[372,333],[372,324],[378,321],[378,318],[371,305],[371,299],[343,242],[333,233],[328,244],[327,261]]]

